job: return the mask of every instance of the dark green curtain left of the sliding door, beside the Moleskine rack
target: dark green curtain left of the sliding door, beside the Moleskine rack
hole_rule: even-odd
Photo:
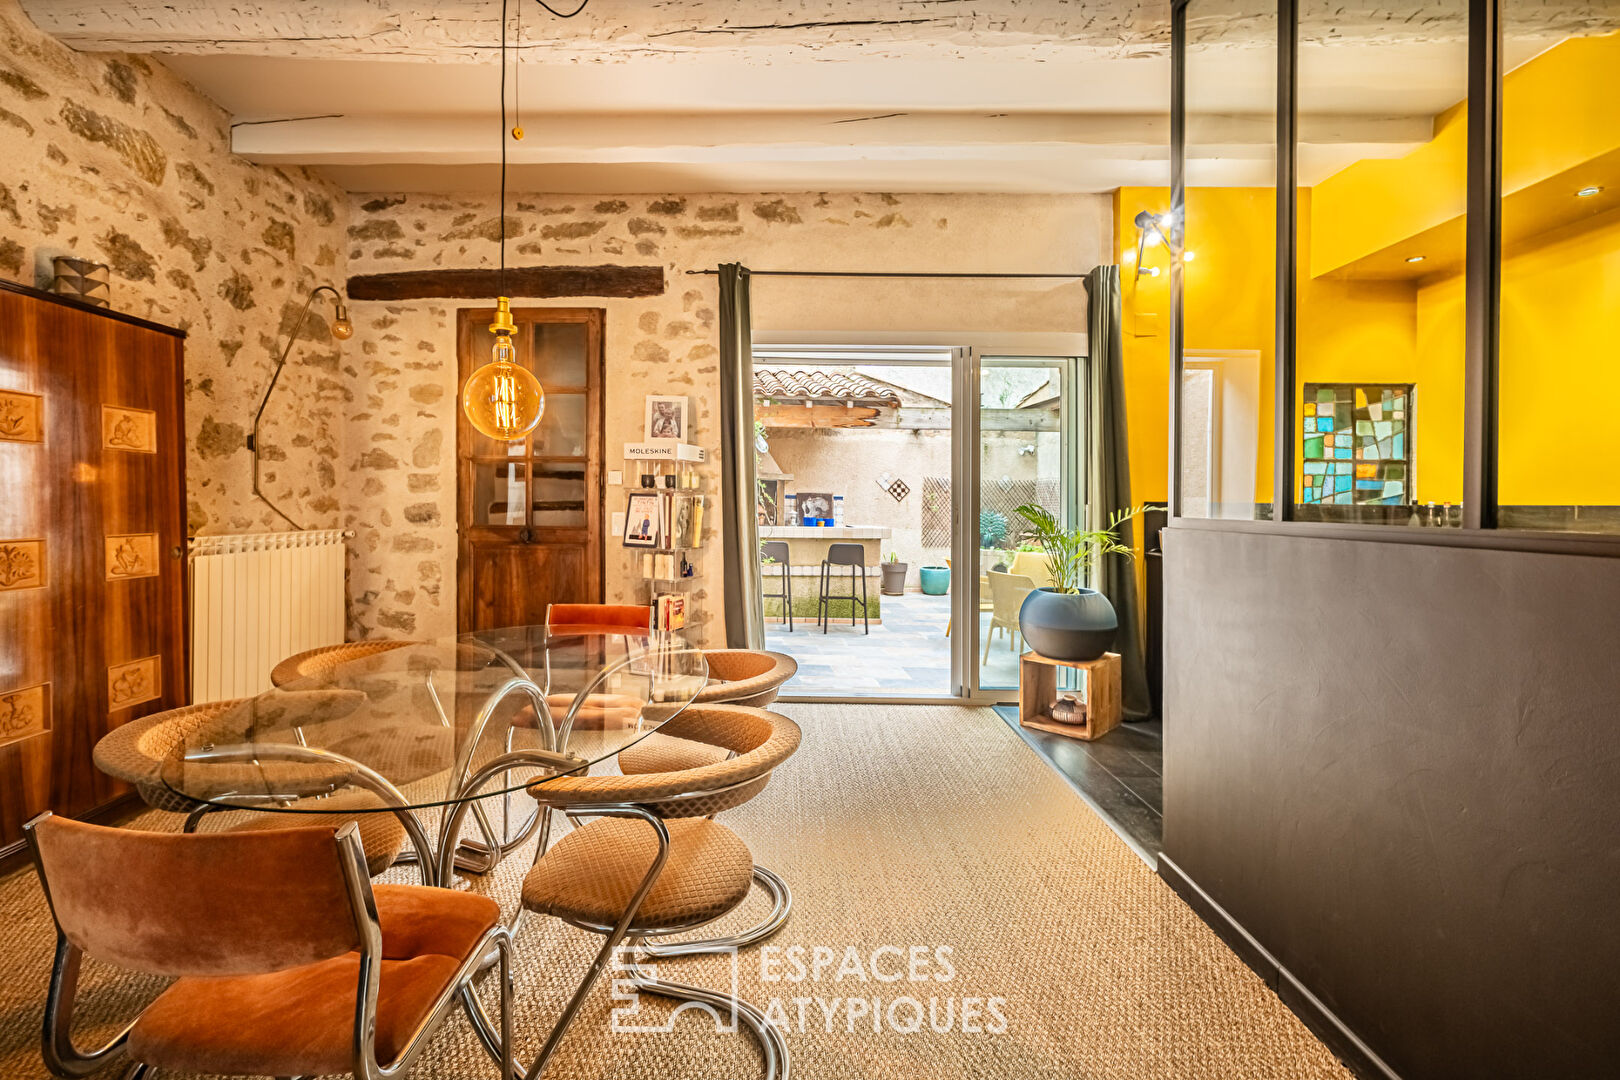
[[[726,648],[765,646],[760,602],[760,528],[753,476],[753,316],[748,267],[719,267],[721,547],[726,573]]]

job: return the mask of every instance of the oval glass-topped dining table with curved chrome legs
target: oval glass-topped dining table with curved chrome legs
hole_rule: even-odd
[[[549,821],[523,789],[617,755],[706,682],[703,651],[679,635],[484,630],[248,698],[175,740],[159,776],[199,818],[392,813],[413,848],[403,858],[424,884],[447,884],[457,868],[492,870]]]

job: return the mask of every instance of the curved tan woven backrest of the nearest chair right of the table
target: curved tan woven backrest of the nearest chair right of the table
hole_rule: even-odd
[[[659,808],[666,814],[718,813],[724,806],[690,811],[684,810],[680,801],[671,800],[701,792],[713,792],[716,797],[740,792],[744,798],[752,798],[771,769],[799,748],[799,725],[786,716],[765,709],[735,704],[692,706],[680,714],[679,722],[682,738],[721,746],[737,756],[676,772],[559,776],[531,784],[528,792],[551,806],[666,803]],[[726,789],[724,793],[721,789]]]

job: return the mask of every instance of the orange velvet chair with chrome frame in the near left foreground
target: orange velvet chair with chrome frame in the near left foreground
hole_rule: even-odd
[[[149,1069],[405,1077],[489,950],[499,954],[497,1051],[502,1077],[512,1075],[501,907],[450,889],[373,889],[353,823],[186,836],[42,814],[26,832],[57,923],[44,1057],[62,1080],[113,1064],[126,1080]],[[86,954],[175,976],[91,1052],[71,1036]]]

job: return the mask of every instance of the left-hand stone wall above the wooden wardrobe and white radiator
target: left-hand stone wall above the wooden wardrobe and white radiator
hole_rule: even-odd
[[[227,113],[159,63],[73,52],[0,0],[0,275],[105,262],[115,309],[188,332],[193,533],[287,528],[253,497],[246,436],[303,298],[343,282],[347,214],[330,185],[230,154]],[[266,413],[266,489],[309,528],[342,518],[339,369],[308,321]]]

